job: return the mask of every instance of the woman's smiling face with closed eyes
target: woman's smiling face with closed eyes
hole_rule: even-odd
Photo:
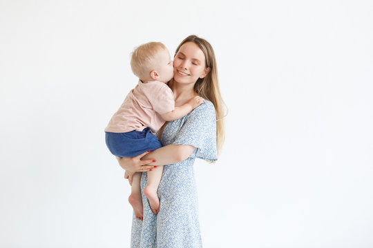
[[[184,43],[173,59],[173,79],[178,83],[195,83],[209,72],[205,57],[194,42]]]

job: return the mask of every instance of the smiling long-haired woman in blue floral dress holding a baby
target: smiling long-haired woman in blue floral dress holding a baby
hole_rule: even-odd
[[[202,247],[193,163],[195,158],[217,160],[224,142],[225,108],[215,54],[207,41],[195,35],[184,39],[176,49],[173,65],[174,78],[169,86],[175,105],[183,105],[198,95],[206,101],[187,116],[164,124],[158,132],[164,147],[151,154],[118,160],[130,178],[134,172],[146,172],[153,165],[166,165],[157,192],[160,211],[153,214],[142,194],[144,217],[138,220],[133,216],[131,247]],[[142,191],[146,181],[143,173]]]

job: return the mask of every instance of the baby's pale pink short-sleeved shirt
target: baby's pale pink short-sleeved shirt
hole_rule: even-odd
[[[131,132],[142,131],[150,127],[155,134],[164,124],[160,114],[175,109],[173,92],[166,83],[151,81],[139,83],[131,90],[124,102],[111,117],[105,132]]]

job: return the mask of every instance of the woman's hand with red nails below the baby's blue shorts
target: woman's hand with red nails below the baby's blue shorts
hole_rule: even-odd
[[[149,172],[150,169],[153,169],[154,166],[150,165],[151,163],[155,162],[154,159],[146,159],[144,161],[141,160],[143,156],[149,154],[149,152],[144,152],[139,156],[131,157],[131,158],[118,158],[117,161],[123,169],[126,170],[129,174],[135,174],[135,172]]]

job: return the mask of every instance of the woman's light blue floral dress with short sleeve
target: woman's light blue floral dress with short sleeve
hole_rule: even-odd
[[[216,161],[216,112],[210,101],[204,101],[192,112],[170,121],[163,130],[162,145],[193,145],[186,160],[165,165],[158,187],[160,212],[153,214],[144,196],[147,174],[141,177],[144,220],[133,214],[132,248],[202,247],[198,202],[193,164],[195,158]]]

